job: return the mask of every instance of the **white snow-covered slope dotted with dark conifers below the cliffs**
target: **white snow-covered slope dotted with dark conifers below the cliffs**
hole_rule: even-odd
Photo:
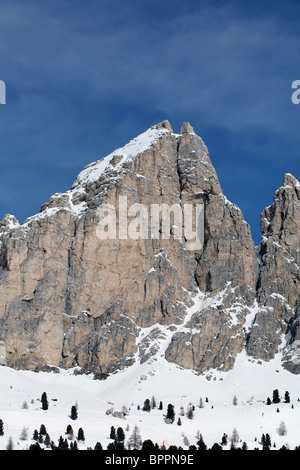
[[[0,419],[4,423],[1,450],[7,448],[10,437],[13,450],[28,449],[35,442],[34,430],[39,431],[41,424],[56,445],[60,436],[67,437],[68,424],[73,427],[75,437],[81,427],[85,442],[78,444],[79,450],[94,449],[97,442],[106,449],[112,442],[111,426],[123,428],[126,445],[135,425],[142,440],[151,439],[159,446],[164,443],[166,448],[173,444],[188,450],[189,445],[196,444],[197,433],[201,433],[204,442],[211,447],[215,442],[220,443],[226,433],[229,443],[224,449],[229,449],[234,429],[240,439],[237,445],[246,442],[249,450],[261,449],[261,436],[266,433],[271,437],[272,446],[276,445],[271,449],[278,450],[285,445],[293,450],[300,445],[300,377],[282,369],[280,354],[273,361],[263,363],[242,353],[232,371],[211,371],[204,375],[183,370],[160,357],[151,364],[133,365],[102,381],[92,375],[75,375],[74,370],[46,373],[2,366],[0,383]],[[267,405],[267,397],[272,400],[274,389],[279,390],[281,402]],[[290,394],[290,403],[284,402],[286,391]],[[40,401],[43,392],[49,402],[46,411],[42,410]],[[144,401],[151,400],[152,396],[157,407],[150,412],[143,411]],[[200,398],[203,408],[199,407]],[[158,409],[160,401],[163,410]],[[164,421],[169,403],[175,410],[173,424]],[[70,412],[75,404],[78,418],[72,420]],[[195,406],[193,419],[186,416],[190,404]],[[124,406],[128,409],[125,419],[106,414],[110,408],[121,411]],[[180,407],[184,408],[184,416],[180,416]],[[181,426],[177,425],[179,416]],[[282,422],[286,427],[283,436],[278,433]],[[20,438],[24,428],[28,433],[26,440]]]

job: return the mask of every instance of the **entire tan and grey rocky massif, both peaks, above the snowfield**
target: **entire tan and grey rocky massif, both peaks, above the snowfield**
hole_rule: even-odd
[[[206,373],[246,351],[299,374],[294,176],[260,222],[255,247],[192,126],[157,124],[23,224],[0,223],[0,363],[105,377],[163,357]]]

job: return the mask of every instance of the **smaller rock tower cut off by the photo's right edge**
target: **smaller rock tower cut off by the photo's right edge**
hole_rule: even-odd
[[[300,184],[292,175],[284,176],[283,186],[262,213],[260,223],[260,309],[248,352],[269,360],[282,350],[284,366],[299,373]]]

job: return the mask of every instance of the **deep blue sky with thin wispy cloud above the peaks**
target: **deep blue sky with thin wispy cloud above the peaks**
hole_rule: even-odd
[[[259,243],[284,173],[300,178],[299,3],[0,0],[0,219],[168,119],[203,138]]]

